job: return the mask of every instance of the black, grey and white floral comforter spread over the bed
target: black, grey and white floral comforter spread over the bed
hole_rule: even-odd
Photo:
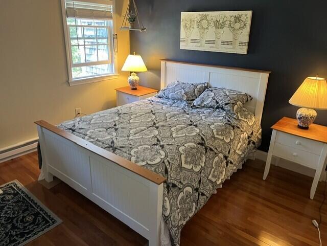
[[[167,177],[163,217],[179,245],[185,223],[261,143],[253,114],[236,111],[153,97],[58,127]]]

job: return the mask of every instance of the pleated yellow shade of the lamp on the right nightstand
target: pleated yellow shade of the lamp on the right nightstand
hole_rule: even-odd
[[[327,82],[324,78],[308,77],[303,81],[289,103],[299,107],[327,109]]]

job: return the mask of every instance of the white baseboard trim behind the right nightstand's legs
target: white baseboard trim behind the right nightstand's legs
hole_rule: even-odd
[[[265,151],[262,151],[262,150],[256,150],[256,152],[255,152],[255,158],[259,159],[261,161],[264,161],[264,162],[267,161],[267,155],[268,155],[268,153]],[[305,167],[300,164],[290,162],[288,160],[284,160],[282,158],[277,163],[277,158],[275,156],[272,156],[271,164],[274,166],[282,167],[282,168],[288,169],[290,171],[309,176],[309,177],[314,177],[315,172],[316,172],[315,169]],[[325,175],[326,175],[326,172],[321,173],[320,181],[325,181]]]

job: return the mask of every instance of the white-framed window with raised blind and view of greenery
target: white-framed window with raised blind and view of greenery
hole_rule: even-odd
[[[115,76],[112,1],[62,1],[69,84]]]

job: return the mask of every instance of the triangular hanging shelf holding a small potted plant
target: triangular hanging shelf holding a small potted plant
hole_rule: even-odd
[[[135,0],[129,0],[128,7],[124,16],[121,30],[145,31],[142,20],[135,4]]]

